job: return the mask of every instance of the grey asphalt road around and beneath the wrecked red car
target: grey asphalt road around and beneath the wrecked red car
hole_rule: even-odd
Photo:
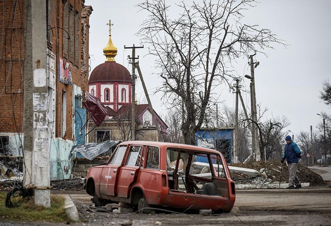
[[[235,206],[239,213],[224,213],[210,216],[199,214],[138,214],[98,212],[85,192],[70,192],[82,222],[71,225],[107,226],[127,222],[132,226],[155,225],[331,225],[331,188],[307,188],[298,190],[237,190]],[[57,193],[59,194],[59,193]],[[66,192],[68,194],[68,192]],[[59,194],[61,195],[61,194]],[[11,223],[0,226],[58,226],[65,223]]]

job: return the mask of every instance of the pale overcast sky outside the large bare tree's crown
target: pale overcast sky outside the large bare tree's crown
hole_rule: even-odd
[[[125,3],[124,3],[125,2]],[[138,12],[134,7],[137,0],[86,0],[86,5],[93,7],[90,17],[90,49],[91,71],[105,61],[102,49],[108,42],[109,19],[112,20],[112,40],[118,48],[116,62],[130,69],[127,55],[130,50],[124,50],[124,45],[138,46],[140,38],[135,35],[146,18],[146,12]],[[172,3],[167,1],[166,3]],[[190,4],[191,1],[185,0]],[[309,130],[310,125],[316,129],[321,120],[316,113],[331,113],[318,98],[322,89],[322,82],[331,78],[331,1],[329,0],[261,0],[257,7],[245,12],[245,23],[259,24],[262,28],[269,28],[289,46],[284,48],[276,45],[274,50],[267,50],[268,57],[256,55],[260,61],[255,70],[257,103],[269,108],[268,116],[286,116],[291,125],[289,130],[298,134],[301,130]],[[169,10],[169,14],[176,13]],[[154,68],[154,59],[148,53],[148,46],[137,49],[140,56],[140,68],[149,92],[162,85]],[[234,68],[243,78],[250,74],[247,57],[237,59]],[[249,90],[249,81],[243,79],[243,89]],[[234,94],[226,85],[218,88],[220,106],[234,108]],[[137,99],[144,100],[140,81],[137,87]],[[249,105],[248,94],[243,94],[246,105]],[[166,106],[160,103],[160,94],[151,97],[153,108],[160,115],[165,114]],[[239,108],[241,109],[241,107]],[[291,134],[292,135],[292,134]]]

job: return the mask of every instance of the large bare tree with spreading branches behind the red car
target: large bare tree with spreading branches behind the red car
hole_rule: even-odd
[[[138,4],[149,13],[138,34],[157,57],[156,67],[164,82],[160,91],[172,106],[184,102],[181,129],[185,143],[195,144],[206,109],[215,101],[214,88],[230,85],[231,61],[273,48],[273,43],[283,44],[269,29],[240,23],[242,12],[254,6],[254,0],[203,0],[190,6],[182,1],[174,6],[181,11],[179,16],[171,18],[164,0]]]

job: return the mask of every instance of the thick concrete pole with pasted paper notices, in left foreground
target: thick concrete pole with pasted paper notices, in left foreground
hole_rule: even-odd
[[[25,1],[24,186],[34,203],[50,207],[46,1]]]

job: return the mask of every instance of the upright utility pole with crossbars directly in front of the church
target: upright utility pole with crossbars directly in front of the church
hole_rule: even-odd
[[[138,48],[144,48],[144,46],[131,46],[131,47],[125,47],[124,49],[132,49],[132,57],[128,56],[129,59],[131,59],[132,64],[132,83],[131,83],[131,140],[135,140],[135,130],[136,130],[136,113],[135,113],[135,97],[136,97],[136,59],[139,59],[139,56],[136,57],[136,49]]]

